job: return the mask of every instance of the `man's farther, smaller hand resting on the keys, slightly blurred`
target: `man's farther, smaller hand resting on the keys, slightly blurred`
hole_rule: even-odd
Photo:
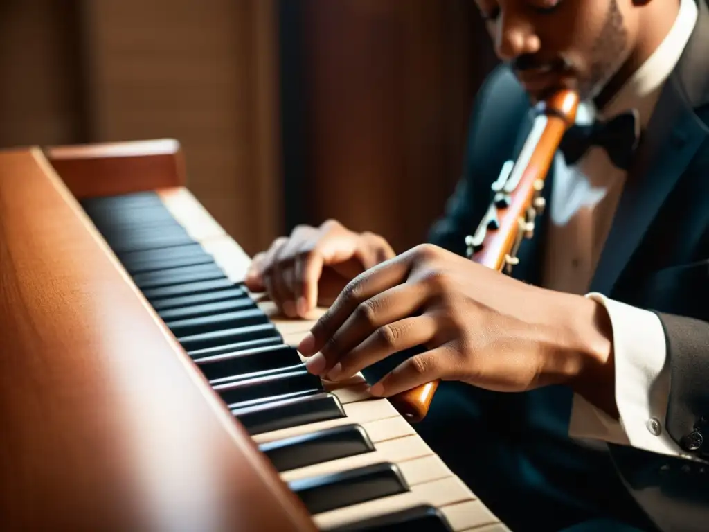
[[[354,233],[338,221],[320,227],[298,226],[253,257],[245,284],[267,292],[291,318],[328,306],[348,282],[394,257],[391,245],[373,233]]]

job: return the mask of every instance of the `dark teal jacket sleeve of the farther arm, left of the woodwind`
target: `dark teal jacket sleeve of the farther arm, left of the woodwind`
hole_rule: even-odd
[[[529,100],[506,66],[489,75],[474,101],[463,175],[428,241],[464,255],[465,237],[474,231],[491,197],[486,194],[515,148]]]

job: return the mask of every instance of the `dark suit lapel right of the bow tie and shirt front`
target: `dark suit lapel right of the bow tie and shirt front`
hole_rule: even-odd
[[[620,198],[592,292],[610,294],[676,182],[709,130],[695,109],[709,97],[709,15],[699,2],[694,33],[668,78]]]

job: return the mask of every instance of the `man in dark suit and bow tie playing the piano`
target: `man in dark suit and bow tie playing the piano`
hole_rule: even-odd
[[[443,379],[417,430],[513,531],[705,528],[707,0],[476,3],[504,66],[430,243],[395,255],[336,221],[298,227],[247,284],[291,316],[335,300],[300,345],[325,378],[425,345],[372,394]],[[502,275],[465,237],[559,87],[579,91],[577,126]]]

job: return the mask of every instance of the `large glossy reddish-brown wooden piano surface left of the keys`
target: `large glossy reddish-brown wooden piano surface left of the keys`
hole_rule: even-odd
[[[0,235],[3,530],[315,531],[38,149]]]

